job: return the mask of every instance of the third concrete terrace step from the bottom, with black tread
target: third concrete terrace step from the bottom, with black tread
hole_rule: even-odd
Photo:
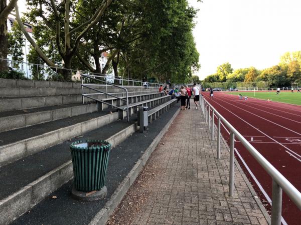
[[[96,103],[69,103],[0,112],[0,132],[97,110]]]

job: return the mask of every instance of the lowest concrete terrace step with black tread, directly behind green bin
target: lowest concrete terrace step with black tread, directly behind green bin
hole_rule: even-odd
[[[134,120],[114,121],[0,168],[0,224],[8,224],[73,176],[69,145],[106,139],[112,147],[136,129]]]

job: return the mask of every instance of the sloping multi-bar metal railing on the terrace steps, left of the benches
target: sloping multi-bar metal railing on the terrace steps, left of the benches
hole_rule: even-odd
[[[107,85],[110,85],[110,86],[114,86],[114,87],[117,87],[117,88],[121,88],[122,90],[125,90],[126,98],[124,99],[123,97],[116,96],[116,95],[114,95],[114,94],[108,93],[107,91],[105,92],[105,91],[102,91],[102,90],[100,90],[100,89],[96,89],[96,88],[91,87],[91,86],[100,86],[101,84],[96,84],[96,83],[87,83],[87,84],[84,84],[84,79],[83,79],[83,77],[87,77],[87,78],[89,78],[89,79],[93,79],[93,80],[97,80],[97,81],[103,82],[103,83],[106,84],[106,86],[107,86]],[[102,86],[102,85],[101,85],[101,86]],[[115,84],[113,84],[113,83],[109,83],[109,82],[106,82],[106,81],[97,79],[97,78],[95,78],[94,76],[91,76],[91,75],[88,75],[88,74],[81,74],[81,87],[82,87],[82,98],[83,98],[83,103],[85,102],[84,97],[88,97],[88,98],[90,98],[90,99],[96,100],[97,102],[102,102],[102,103],[104,103],[104,104],[107,104],[107,105],[110,105],[110,106],[112,106],[112,107],[118,108],[118,109],[120,109],[120,110],[122,110],[122,111],[126,111],[127,121],[129,122],[129,114],[128,114],[128,92],[127,92],[127,89],[126,89],[125,87],[121,87],[121,86],[115,85]],[[92,90],[94,90],[94,91],[97,91],[97,92],[100,92],[100,93],[103,93],[103,94],[110,95],[110,96],[112,96],[112,97],[115,97],[115,98],[119,99],[119,101],[120,101],[120,100],[125,101],[125,103],[126,103],[126,108],[121,107],[121,104],[118,103],[118,101],[117,101],[117,104],[116,104],[116,105],[113,105],[113,104],[110,104],[110,103],[108,103],[108,102],[106,102],[106,101],[103,101],[103,100],[100,100],[100,99],[97,99],[97,98],[94,98],[94,97],[90,96],[90,95],[92,95],[91,93],[86,93],[86,94],[85,94],[85,93],[84,93],[84,87],[87,87],[88,89],[92,89]],[[97,95],[97,94],[99,94],[99,93],[93,93],[93,94],[94,94],[94,95],[95,95],[95,94]],[[122,95],[123,95],[123,94],[122,94]]]

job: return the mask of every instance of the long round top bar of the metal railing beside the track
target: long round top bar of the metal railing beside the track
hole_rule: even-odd
[[[220,117],[224,125],[227,126],[235,137],[247,148],[256,161],[264,168],[264,170],[275,180],[275,182],[284,190],[290,199],[301,209],[301,193],[295,188],[267,159],[263,157],[203,96],[209,107],[214,109],[215,114]]]

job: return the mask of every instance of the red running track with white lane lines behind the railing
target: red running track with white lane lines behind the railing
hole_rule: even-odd
[[[205,98],[221,113],[286,179],[301,190],[301,106],[214,92]],[[229,144],[229,131],[222,125]],[[235,140],[236,155],[264,205],[270,210],[271,177],[248,150]],[[282,223],[301,224],[301,211],[283,192]]]

